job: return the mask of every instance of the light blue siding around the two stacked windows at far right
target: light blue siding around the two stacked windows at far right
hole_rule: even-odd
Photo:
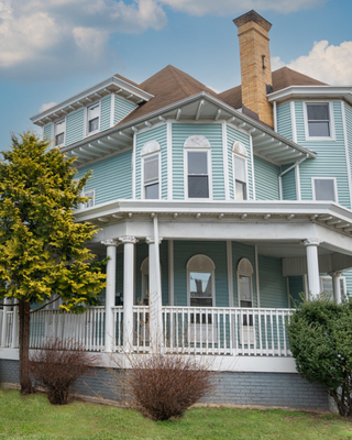
[[[311,177],[336,177],[339,204],[351,208],[349,177],[344,147],[341,102],[332,102],[336,140],[306,141],[304,103],[295,102],[297,142],[318,153],[316,160],[308,160],[300,165],[301,199],[312,200]]]

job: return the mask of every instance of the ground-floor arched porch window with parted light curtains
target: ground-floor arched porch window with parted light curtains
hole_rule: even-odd
[[[207,255],[195,255],[187,263],[188,306],[215,306],[215,270]]]

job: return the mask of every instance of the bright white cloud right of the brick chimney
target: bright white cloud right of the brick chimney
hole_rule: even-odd
[[[279,57],[274,57],[273,59],[275,68],[285,65]],[[308,55],[292,61],[287,64],[287,67],[319,79],[322,82],[345,86],[352,84],[351,59],[352,41],[343,42],[339,46],[329,46],[329,42],[322,40],[315,42]]]

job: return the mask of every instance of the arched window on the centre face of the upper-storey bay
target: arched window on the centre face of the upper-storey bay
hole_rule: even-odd
[[[211,198],[210,142],[196,134],[186,139],[184,151],[186,198]]]

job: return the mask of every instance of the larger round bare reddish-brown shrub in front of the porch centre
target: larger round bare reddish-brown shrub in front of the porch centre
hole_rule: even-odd
[[[153,420],[180,417],[213,388],[213,373],[185,355],[129,355],[129,405]]]

